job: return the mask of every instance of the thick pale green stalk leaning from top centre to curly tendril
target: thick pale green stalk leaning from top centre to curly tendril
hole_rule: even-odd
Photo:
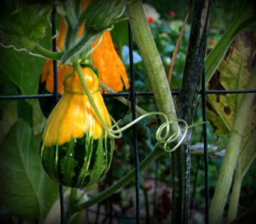
[[[168,84],[165,68],[156,48],[155,40],[148,26],[142,2],[137,1],[128,4],[126,10],[134,39],[147,68],[147,75],[154,91],[157,108],[160,112],[164,112],[170,121],[174,120],[176,119],[176,112],[170,85]],[[171,132],[175,132],[175,130],[175,126],[173,126]]]

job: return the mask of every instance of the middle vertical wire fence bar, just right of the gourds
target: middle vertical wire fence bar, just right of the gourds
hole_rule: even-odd
[[[134,67],[133,67],[133,31],[128,24],[129,34],[129,59],[130,59],[130,74],[131,74],[131,96],[132,96],[132,113],[133,120],[136,119],[136,93],[135,93],[135,80],[134,80]],[[140,183],[139,183],[139,158],[137,151],[137,124],[133,125],[133,147],[135,158],[135,182],[136,182],[136,220],[137,224],[140,223]]]

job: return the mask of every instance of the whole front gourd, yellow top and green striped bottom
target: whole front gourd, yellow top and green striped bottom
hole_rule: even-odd
[[[100,94],[100,75],[94,66],[81,66],[86,85],[105,124],[109,112]],[[109,139],[81,85],[77,72],[67,78],[66,91],[50,113],[41,135],[44,170],[60,185],[82,188],[105,176],[112,160]]]

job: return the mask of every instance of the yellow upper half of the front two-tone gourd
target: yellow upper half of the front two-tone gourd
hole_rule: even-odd
[[[81,70],[90,91],[99,89],[100,77],[97,77],[89,66],[81,68]],[[84,92],[77,72],[67,79],[65,88],[71,91]],[[101,117],[110,126],[109,112],[105,107],[100,91],[92,93],[91,96],[100,111]],[[44,126],[42,134],[44,146],[65,144],[72,138],[81,138],[85,132],[89,132],[91,136],[94,136],[94,139],[105,136],[105,130],[95,115],[86,94],[65,92]]]

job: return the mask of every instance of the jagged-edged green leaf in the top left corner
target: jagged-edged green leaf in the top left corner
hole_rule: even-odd
[[[4,37],[1,42],[10,40],[16,47],[30,51],[44,38],[47,21],[39,7],[22,1],[3,1],[0,15],[0,32]]]

